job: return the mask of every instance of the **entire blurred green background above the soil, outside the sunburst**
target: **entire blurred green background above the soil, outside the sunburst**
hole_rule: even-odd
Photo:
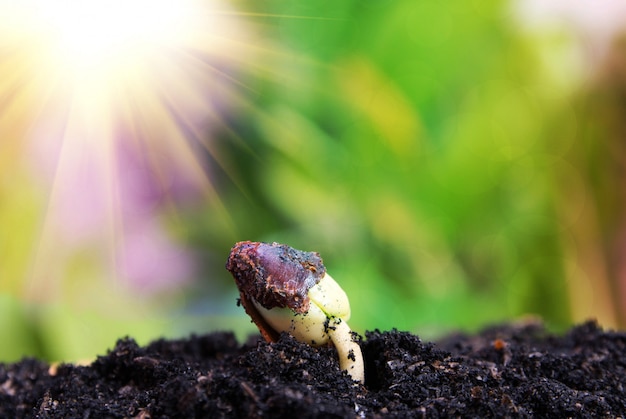
[[[535,25],[492,0],[236,7],[259,37],[197,148],[209,186],[154,208],[167,251],[191,255],[180,285],[116,281],[98,246],[46,259],[55,280],[33,270],[49,195],[5,146],[0,361],[90,359],[124,335],[244,340],[255,329],[224,269],[241,240],[318,251],[359,333],[434,338],[526,315],[624,327],[619,37],[600,54],[558,13]],[[11,144],[15,124],[0,121]],[[174,262],[143,263],[158,276]]]

